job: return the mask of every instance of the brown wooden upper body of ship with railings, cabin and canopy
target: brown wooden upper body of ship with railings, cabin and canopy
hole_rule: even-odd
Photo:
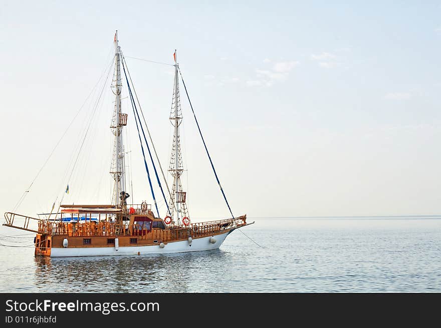
[[[35,255],[50,256],[54,247],[125,247],[160,245],[172,241],[225,233],[246,224],[246,216],[210,222],[189,223],[184,226],[167,225],[156,218],[146,204],[128,205],[128,209],[112,205],[62,205],[56,218],[36,219],[6,213],[8,226],[36,232]],[[24,227],[14,219],[25,219]],[[29,228],[31,220],[38,220],[38,229]]]

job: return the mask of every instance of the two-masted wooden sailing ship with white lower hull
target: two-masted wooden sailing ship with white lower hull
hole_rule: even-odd
[[[202,138],[202,142],[211,163],[216,181],[220,187],[231,217],[207,222],[192,222],[186,205],[186,192],[181,183],[184,171],[180,147],[179,126],[182,122],[182,110],[179,98],[179,76],[186,91],[179,65],[174,57],[174,86],[169,120],[173,126],[173,145],[171,149],[168,171],[173,177],[173,184],[169,188],[164,172],[156,154],[150,132],[142,124],[139,115],[140,106],[131,83],[127,64],[118,42],[118,32],[114,37],[114,78],[112,91],[115,96],[111,131],[114,137],[113,156],[110,174],[113,177],[112,201],[110,204],[59,204],[58,211],[54,208],[47,218],[35,218],[18,213],[5,213],[6,223],[3,225],[36,233],[35,255],[64,257],[64,256],[98,256],[98,255],[140,255],[148,253],[176,253],[193,252],[200,250],[217,249],[227,236],[236,229],[252,223],[247,223],[247,216],[235,217],[228,204],[224,190],[220,187],[218,176],[203,140],[199,124],[191,110]],[[122,71],[121,71],[122,67]],[[124,78],[122,77],[124,73]],[[141,143],[142,156],[152,193],[154,207],[147,202],[130,204],[130,197],[126,189],[125,149],[123,131],[127,125],[128,113],[121,111],[121,90],[126,83],[133,111],[132,121],[135,122]],[[189,98],[188,98],[189,100]],[[138,106],[136,106],[138,104]],[[145,134],[146,128],[149,141]],[[144,143],[143,143],[144,141]],[[144,146],[146,149],[144,149]],[[145,151],[147,150],[147,152]],[[146,153],[149,156],[146,158]],[[156,157],[156,164],[153,160]],[[152,175],[147,164],[151,159],[151,168],[154,171],[161,196],[167,205],[163,217],[160,216],[156,197],[152,187]],[[158,169],[156,165],[159,165]],[[162,174],[165,188],[162,187],[158,171]],[[164,191],[165,189],[165,191]],[[69,191],[69,185],[66,192]],[[55,203],[54,203],[55,204]],[[54,212],[54,213],[53,213]],[[34,227],[36,226],[36,228]]]

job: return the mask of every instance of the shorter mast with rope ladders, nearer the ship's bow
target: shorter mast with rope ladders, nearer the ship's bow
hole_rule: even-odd
[[[173,187],[171,197],[168,204],[168,209],[171,213],[172,220],[175,224],[180,224],[183,217],[188,218],[187,205],[185,203],[186,193],[182,189],[180,176],[183,172],[179,125],[182,122],[182,111],[179,100],[179,82],[178,82],[178,64],[176,61],[176,50],[174,51],[174,89],[173,99],[171,102],[170,122],[174,127],[173,133],[173,147],[170,156],[170,165],[168,171],[173,177]],[[174,204],[173,204],[174,203]],[[174,205],[174,206],[173,206]],[[176,210],[176,211],[175,211]]]

